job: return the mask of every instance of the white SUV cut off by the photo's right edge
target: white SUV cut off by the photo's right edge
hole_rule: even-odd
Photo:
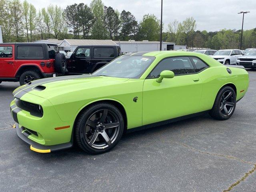
[[[251,49],[244,56],[238,57],[236,64],[246,68],[256,68],[256,49]]]

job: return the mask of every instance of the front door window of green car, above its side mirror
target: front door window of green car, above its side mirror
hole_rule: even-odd
[[[149,77],[159,77],[163,70],[171,70],[175,75],[196,72],[188,57],[173,57],[160,61]]]

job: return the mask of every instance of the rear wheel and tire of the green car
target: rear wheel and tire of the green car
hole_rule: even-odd
[[[236,93],[232,87],[225,86],[218,92],[209,114],[215,119],[227,120],[232,116],[235,108]]]

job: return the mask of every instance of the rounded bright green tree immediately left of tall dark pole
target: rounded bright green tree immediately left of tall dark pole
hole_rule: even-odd
[[[142,40],[157,41],[160,36],[160,20],[154,14],[143,16],[139,29]]]

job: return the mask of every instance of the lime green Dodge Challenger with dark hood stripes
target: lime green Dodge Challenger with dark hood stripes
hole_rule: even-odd
[[[100,154],[124,132],[209,112],[232,116],[246,93],[244,68],[224,66],[195,52],[138,52],[120,56],[93,74],[30,82],[13,92],[16,133],[30,149],[52,152],[76,143]]]

